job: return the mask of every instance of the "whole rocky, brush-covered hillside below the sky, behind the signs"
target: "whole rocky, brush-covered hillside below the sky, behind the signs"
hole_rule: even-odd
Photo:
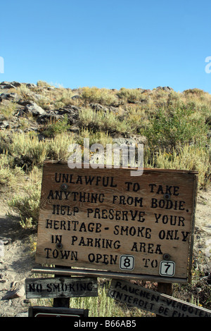
[[[23,286],[34,264],[41,165],[66,160],[70,142],[144,144],[144,165],[198,170],[193,284],[174,296],[210,309],[211,95],[200,89],[65,89],[39,81],[0,83],[0,316],[27,311]],[[21,190],[21,194],[19,194]],[[8,218],[8,207],[15,218]],[[35,232],[36,233],[36,232]],[[0,238],[2,239],[2,238]],[[11,300],[13,299],[13,300]],[[11,303],[12,301],[12,303]],[[129,310],[128,310],[129,312]]]

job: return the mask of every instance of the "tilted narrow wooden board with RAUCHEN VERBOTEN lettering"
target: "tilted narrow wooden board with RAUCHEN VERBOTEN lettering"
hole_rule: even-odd
[[[159,316],[211,317],[208,309],[122,280],[112,280],[108,296]]]

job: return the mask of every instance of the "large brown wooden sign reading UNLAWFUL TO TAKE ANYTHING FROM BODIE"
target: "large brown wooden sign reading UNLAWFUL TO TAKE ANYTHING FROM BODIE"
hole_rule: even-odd
[[[187,282],[196,191],[196,172],[45,162],[36,261]]]

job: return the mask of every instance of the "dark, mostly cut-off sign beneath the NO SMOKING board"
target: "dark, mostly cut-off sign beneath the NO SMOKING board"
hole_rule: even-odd
[[[89,309],[40,307],[29,308],[29,317],[70,317],[84,318],[89,316]]]

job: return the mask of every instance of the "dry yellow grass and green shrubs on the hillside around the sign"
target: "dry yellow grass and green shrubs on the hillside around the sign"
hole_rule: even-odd
[[[151,168],[198,170],[199,188],[210,185],[210,125],[211,95],[199,89],[182,93],[160,89],[120,89],[111,91],[96,87],[77,90],[79,99],[72,99],[75,92],[38,82],[31,89],[25,85],[14,89],[23,99],[37,101],[46,111],[67,105],[79,106],[79,134],[70,132],[68,121],[61,120],[43,127],[48,130],[44,140],[36,132],[0,132],[0,185],[9,192],[12,211],[20,215],[23,227],[37,225],[41,168],[44,160],[67,161],[70,144],[83,144],[89,137],[90,144],[111,144],[113,137],[146,137],[144,165]],[[90,104],[101,104],[106,110],[94,111]],[[115,107],[115,111],[111,108]],[[8,120],[17,105],[1,104],[0,112]],[[111,107],[111,108],[109,108]],[[27,119],[23,120],[23,129]],[[11,192],[13,188],[13,192]],[[193,264],[194,268],[194,264]],[[188,299],[193,304],[210,308],[210,287],[201,279],[203,271],[193,270],[193,285],[175,285],[174,296]],[[201,296],[197,296],[196,285]],[[122,306],[106,295],[108,282],[101,284],[98,298],[71,299],[75,308],[89,308],[90,316],[148,316],[136,308]]]

